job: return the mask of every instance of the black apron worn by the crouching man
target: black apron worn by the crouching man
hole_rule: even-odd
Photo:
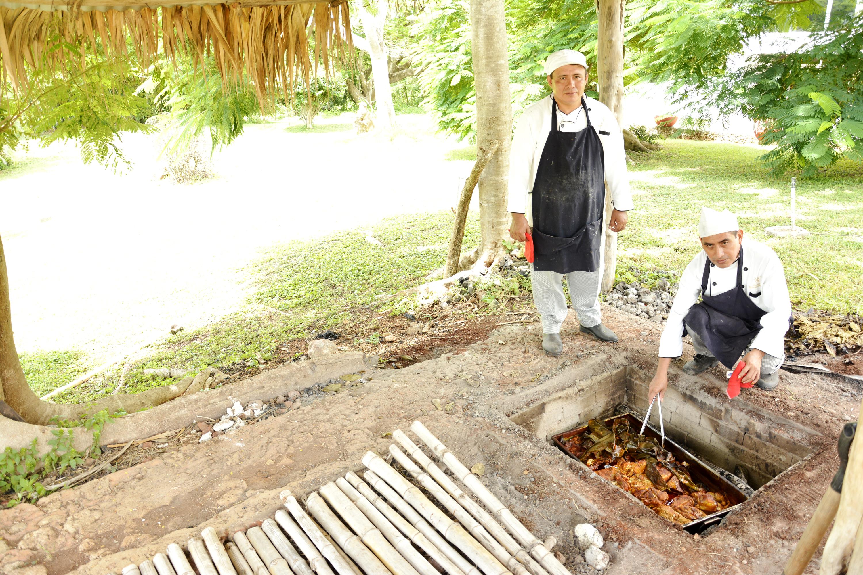
[[[701,337],[704,345],[728,369],[734,369],[740,355],[761,330],[761,317],[767,312],[759,308],[743,285],[743,246],[737,259],[737,287],[718,296],[705,296],[710,276],[710,259],[704,262],[702,301],[690,308],[683,323]]]

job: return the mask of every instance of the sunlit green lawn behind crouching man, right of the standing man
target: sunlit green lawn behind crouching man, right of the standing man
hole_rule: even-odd
[[[633,154],[635,209],[619,236],[618,273],[629,266],[681,271],[700,249],[702,205],[737,213],[744,233],[782,259],[797,308],[863,309],[863,169],[841,162],[797,180],[803,238],[768,238],[789,223],[790,177],[772,178],[756,159],[764,150],[715,142],[666,140],[658,153]],[[854,235],[856,234],[856,235]]]

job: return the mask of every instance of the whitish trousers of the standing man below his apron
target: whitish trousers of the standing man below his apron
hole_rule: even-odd
[[[569,272],[566,283],[570,287],[570,301],[578,313],[578,322],[585,328],[602,323],[599,310],[599,289],[602,284],[602,262],[595,272]],[[566,319],[564,274],[535,272],[531,264],[533,303],[542,316],[542,333],[559,334],[560,324]]]

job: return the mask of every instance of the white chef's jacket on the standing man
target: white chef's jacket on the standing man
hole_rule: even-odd
[[[584,97],[588,106],[590,123],[594,125],[602,142],[605,157],[605,184],[611,192],[614,209],[633,209],[633,196],[629,190],[627,155],[623,150],[623,132],[617,118],[604,104],[591,97]],[[570,114],[557,109],[557,129],[562,132],[580,132],[588,125],[581,106]],[[507,211],[525,214],[533,225],[531,213],[533,183],[537,178],[539,158],[545,140],[551,131],[551,96],[544,97],[525,109],[515,124],[513,147],[509,156],[509,202]],[[607,132],[608,134],[602,134]]]

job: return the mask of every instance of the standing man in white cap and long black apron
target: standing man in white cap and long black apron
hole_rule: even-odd
[[[551,96],[528,107],[515,128],[507,211],[513,218],[513,240],[526,241],[526,234],[532,234],[533,302],[542,316],[542,347],[557,356],[564,350],[564,275],[580,331],[617,341],[602,325],[599,309],[606,187],[614,203],[608,225],[613,232],[627,227],[633,199],[617,118],[605,104],[584,96],[584,54],[552,53],[545,73]]]

